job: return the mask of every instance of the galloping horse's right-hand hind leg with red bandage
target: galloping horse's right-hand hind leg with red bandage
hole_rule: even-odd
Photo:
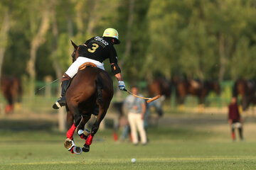
[[[92,131],[91,131],[90,135],[87,137],[87,139],[85,141],[85,145],[82,148],[82,151],[84,151],[84,152],[89,152],[90,151],[90,145],[92,144],[92,138],[96,134],[97,130],[100,128],[100,123],[103,120],[103,118],[105,117],[106,113],[107,113],[107,109],[103,109],[103,108],[100,107],[100,111],[99,111],[99,114],[97,116],[97,120],[92,125]]]

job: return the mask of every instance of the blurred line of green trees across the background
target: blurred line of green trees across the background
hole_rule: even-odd
[[[256,0],[1,0],[0,13],[0,75],[31,87],[68,69],[70,40],[110,27],[124,81],[256,75]]]

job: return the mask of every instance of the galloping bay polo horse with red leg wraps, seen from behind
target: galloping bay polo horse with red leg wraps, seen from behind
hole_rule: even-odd
[[[72,55],[74,62],[80,56],[80,52],[87,48],[84,45],[77,46],[74,42],[72,45],[75,48]],[[82,64],[78,73],[70,81],[70,86],[65,94],[68,132],[64,145],[70,152],[80,154],[82,151],[90,151],[92,138],[107,113],[113,94],[113,82],[105,70],[93,67],[92,63]],[[96,115],[97,119],[90,132],[84,128],[92,114]],[[78,129],[80,138],[85,140],[85,145],[82,148],[76,147],[73,141],[76,129]]]

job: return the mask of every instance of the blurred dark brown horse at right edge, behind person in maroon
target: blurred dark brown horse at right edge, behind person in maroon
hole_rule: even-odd
[[[233,86],[233,96],[242,98],[242,111],[249,108],[250,103],[255,104],[256,81],[253,79],[238,79]]]

